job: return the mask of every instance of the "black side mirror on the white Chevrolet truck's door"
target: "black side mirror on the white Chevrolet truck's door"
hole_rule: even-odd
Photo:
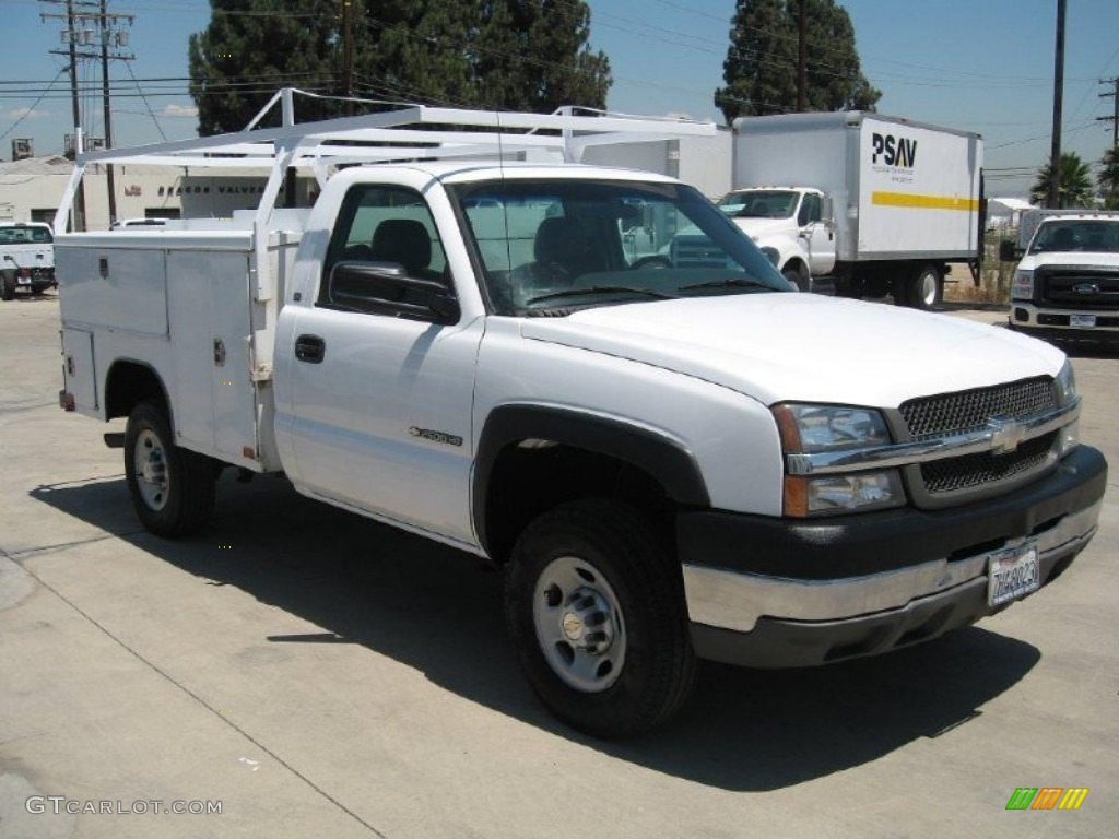
[[[330,270],[327,305],[398,318],[457,323],[459,301],[445,283],[407,275],[394,262],[339,262]]]

